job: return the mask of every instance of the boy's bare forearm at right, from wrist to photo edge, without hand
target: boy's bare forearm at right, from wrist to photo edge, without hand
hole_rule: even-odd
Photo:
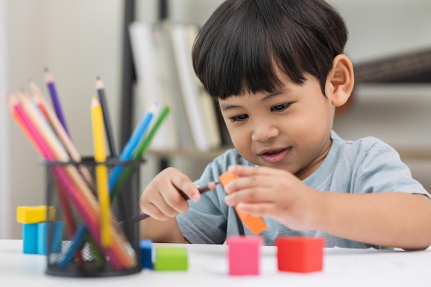
[[[403,249],[431,244],[431,200],[402,192],[320,193],[316,227],[351,240]]]

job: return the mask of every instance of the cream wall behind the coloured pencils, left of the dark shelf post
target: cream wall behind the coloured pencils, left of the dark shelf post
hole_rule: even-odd
[[[8,88],[28,89],[28,80],[32,79],[48,97],[43,81],[43,68],[48,66],[72,139],[81,155],[87,156],[92,154],[90,98],[96,92],[99,75],[106,86],[109,113],[115,136],[119,138],[123,1],[6,0],[6,3]],[[10,123],[9,138],[11,187],[6,202],[12,209],[9,211],[12,231],[5,230],[3,224],[0,230],[1,237],[19,238],[21,226],[14,220],[16,206],[45,204],[45,174],[36,152],[15,123]]]

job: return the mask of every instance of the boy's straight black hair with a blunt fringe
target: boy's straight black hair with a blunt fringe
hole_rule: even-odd
[[[324,0],[226,0],[196,38],[193,67],[214,98],[273,92],[282,84],[275,65],[299,85],[304,73],[317,77],[325,94],[347,36],[344,20]]]

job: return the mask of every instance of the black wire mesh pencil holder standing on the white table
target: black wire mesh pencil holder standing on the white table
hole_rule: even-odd
[[[84,158],[81,162],[43,160],[42,164],[47,175],[47,221],[41,223],[38,236],[47,255],[46,274],[139,273],[139,224],[130,219],[139,213],[143,160],[108,158],[97,163]],[[105,188],[97,180],[105,182]]]

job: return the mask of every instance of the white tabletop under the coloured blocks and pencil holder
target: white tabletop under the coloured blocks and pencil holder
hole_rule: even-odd
[[[0,286],[431,286],[430,249],[405,252],[326,248],[324,270],[300,274],[278,271],[275,247],[262,246],[260,275],[229,276],[227,246],[171,244],[174,245],[187,247],[187,271],[143,270],[118,277],[69,278],[45,275],[45,256],[23,254],[21,240],[0,240]]]

